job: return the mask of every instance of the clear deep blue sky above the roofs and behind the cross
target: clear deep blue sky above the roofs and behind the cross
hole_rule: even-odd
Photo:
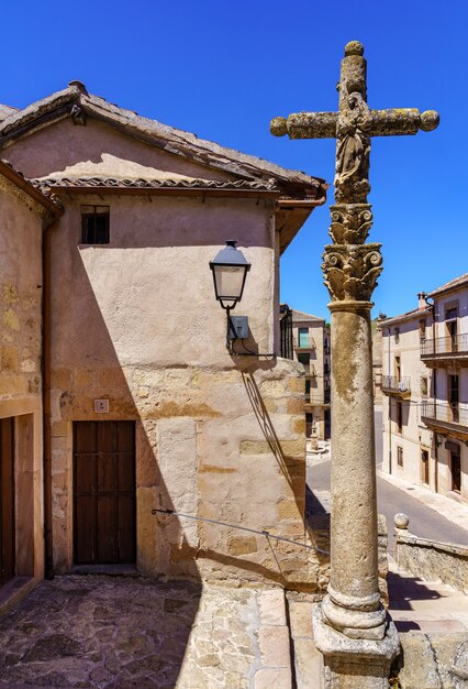
[[[385,259],[375,313],[390,316],[468,271],[467,36],[465,0],[25,0],[2,6],[0,102],[24,107],[81,79],[119,106],[333,182],[333,140],[275,139],[268,124],[335,110],[344,45],[361,41],[371,108],[441,112],[435,132],[372,140],[369,241]],[[282,300],[325,317],[331,203],[281,265]]]

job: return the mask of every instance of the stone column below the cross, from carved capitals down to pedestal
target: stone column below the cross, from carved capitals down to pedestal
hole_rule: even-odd
[[[314,613],[326,689],[388,688],[399,642],[380,603],[370,296],[380,244],[368,204],[332,206],[323,270],[332,303],[332,575]],[[343,228],[354,242],[347,243]]]

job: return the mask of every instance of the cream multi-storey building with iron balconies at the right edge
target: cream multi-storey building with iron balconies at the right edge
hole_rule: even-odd
[[[468,274],[381,322],[383,470],[468,499]]]

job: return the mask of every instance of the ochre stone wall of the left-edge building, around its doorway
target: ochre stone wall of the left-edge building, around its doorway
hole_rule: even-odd
[[[15,417],[16,573],[42,577],[42,221],[0,178],[0,417]]]

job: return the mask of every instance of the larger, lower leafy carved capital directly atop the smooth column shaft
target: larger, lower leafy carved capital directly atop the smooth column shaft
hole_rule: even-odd
[[[328,244],[323,254],[324,283],[332,302],[370,302],[382,272],[381,244]]]

